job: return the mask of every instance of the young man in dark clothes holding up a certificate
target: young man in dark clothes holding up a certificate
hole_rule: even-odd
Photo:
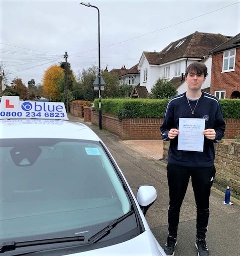
[[[174,255],[177,244],[177,227],[182,201],[188,181],[191,177],[196,202],[196,242],[198,256],[209,256],[205,233],[209,217],[210,188],[215,176],[213,143],[219,142],[224,136],[225,122],[222,110],[216,97],[201,91],[201,86],[207,76],[207,68],[203,63],[190,64],[185,73],[187,91],[173,97],[166,108],[161,125],[163,141],[170,140],[167,165],[169,186],[168,237],[164,247],[167,255]],[[178,149],[179,118],[203,118],[205,128],[203,134],[203,149]],[[198,119],[199,120],[199,119]],[[195,122],[194,119],[190,120]],[[202,120],[200,120],[202,121]],[[193,125],[194,126],[194,125]],[[189,130],[191,133],[191,129]],[[184,138],[188,138],[184,131]],[[184,143],[188,143],[187,140]],[[191,142],[192,143],[192,142]],[[196,144],[199,143],[198,141]],[[194,147],[194,145],[191,145]],[[185,148],[184,148],[185,149]]]

